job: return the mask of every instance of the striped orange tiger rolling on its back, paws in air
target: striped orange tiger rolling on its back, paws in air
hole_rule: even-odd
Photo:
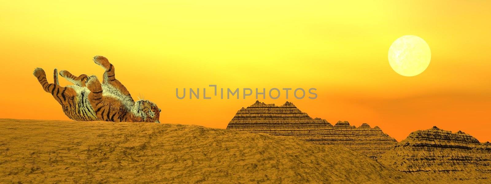
[[[115,78],[114,65],[106,57],[95,56],[93,61],[105,70],[102,84],[96,76],[82,74],[76,77],[66,70],[60,71],[59,75],[74,85],[60,86],[57,69],[53,74],[54,83],[48,82],[42,68],[34,69],[33,75],[72,120],[160,123],[162,110],[148,100],[135,102],[126,87]]]

